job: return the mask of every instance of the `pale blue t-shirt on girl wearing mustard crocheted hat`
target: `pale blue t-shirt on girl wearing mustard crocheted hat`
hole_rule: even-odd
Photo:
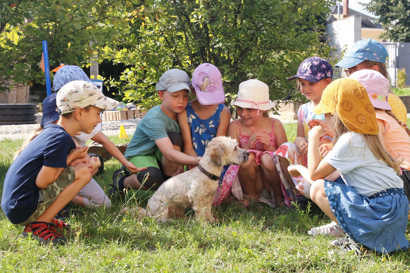
[[[342,134],[324,160],[340,171],[346,185],[366,197],[385,189],[403,188],[403,180],[374,155],[362,134]]]

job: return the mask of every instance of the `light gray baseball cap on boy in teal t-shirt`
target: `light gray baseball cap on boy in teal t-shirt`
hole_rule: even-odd
[[[176,92],[182,89],[191,91],[191,80],[185,71],[180,69],[170,69],[165,71],[157,82],[157,91],[166,90],[168,92]]]

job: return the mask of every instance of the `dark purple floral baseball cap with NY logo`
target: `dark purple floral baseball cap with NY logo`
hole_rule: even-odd
[[[296,78],[302,78],[309,82],[319,82],[323,79],[331,79],[333,69],[328,61],[320,57],[310,57],[302,61],[298,73],[287,79],[291,81]]]

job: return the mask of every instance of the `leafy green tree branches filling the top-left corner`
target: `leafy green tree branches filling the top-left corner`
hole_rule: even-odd
[[[50,60],[89,62],[93,51],[112,45],[121,25],[140,16],[133,5],[121,0],[2,0],[0,92],[44,80],[39,70],[43,40]],[[90,46],[90,41],[96,43]]]

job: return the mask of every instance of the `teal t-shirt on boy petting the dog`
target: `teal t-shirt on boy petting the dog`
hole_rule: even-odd
[[[167,116],[159,105],[155,106],[138,123],[134,136],[125,150],[125,158],[128,160],[138,155],[155,154],[157,151],[155,140],[167,137],[168,132],[180,134],[181,130],[178,123]]]

